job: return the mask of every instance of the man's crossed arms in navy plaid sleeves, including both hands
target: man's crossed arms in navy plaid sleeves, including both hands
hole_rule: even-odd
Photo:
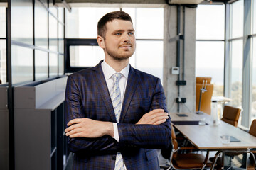
[[[112,122],[81,118],[83,110],[80,104],[80,91],[74,82],[68,81],[65,100],[65,112],[70,120],[65,133],[72,152],[119,151],[124,147],[161,148],[169,147],[171,142],[171,119],[166,113],[164,90],[160,80],[156,82],[151,111],[145,113],[134,123],[117,123],[119,142],[114,140]],[[70,86],[73,88],[70,88]],[[158,109],[156,109],[158,108]],[[161,109],[164,108],[164,109]],[[73,119],[71,119],[73,118]]]

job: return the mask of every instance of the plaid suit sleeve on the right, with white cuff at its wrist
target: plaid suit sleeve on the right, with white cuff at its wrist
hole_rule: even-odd
[[[151,110],[162,108],[167,112],[166,98],[160,79],[156,81]],[[118,123],[119,147],[160,149],[171,144],[171,118],[161,125],[133,125]]]

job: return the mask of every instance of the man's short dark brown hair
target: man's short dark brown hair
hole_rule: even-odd
[[[105,14],[105,16],[102,16],[102,18],[100,18],[100,21],[97,23],[97,35],[100,35],[102,36],[102,38],[105,38],[105,34],[107,31],[106,24],[107,22],[111,22],[114,19],[131,21],[132,23],[131,16],[129,16],[129,14],[125,13],[124,11],[114,11],[107,13]]]

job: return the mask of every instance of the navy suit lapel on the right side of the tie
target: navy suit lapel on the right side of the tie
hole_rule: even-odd
[[[129,108],[129,104],[132,101],[132,96],[134,96],[135,89],[137,88],[137,84],[139,83],[139,77],[134,72],[134,69],[130,66],[127,87],[124,94],[124,101],[122,104],[122,111],[120,115],[120,123],[124,122],[125,115],[127,114],[127,110]]]

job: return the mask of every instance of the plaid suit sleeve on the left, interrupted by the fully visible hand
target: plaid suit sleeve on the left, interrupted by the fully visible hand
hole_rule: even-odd
[[[70,120],[85,118],[80,93],[78,85],[71,77],[68,77],[65,91],[65,128],[68,128],[67,124]],[[68,137],[68,147],[72,152],[81,150],[108,152],[117,149],[117,141],[107,135],[98,138]]]

